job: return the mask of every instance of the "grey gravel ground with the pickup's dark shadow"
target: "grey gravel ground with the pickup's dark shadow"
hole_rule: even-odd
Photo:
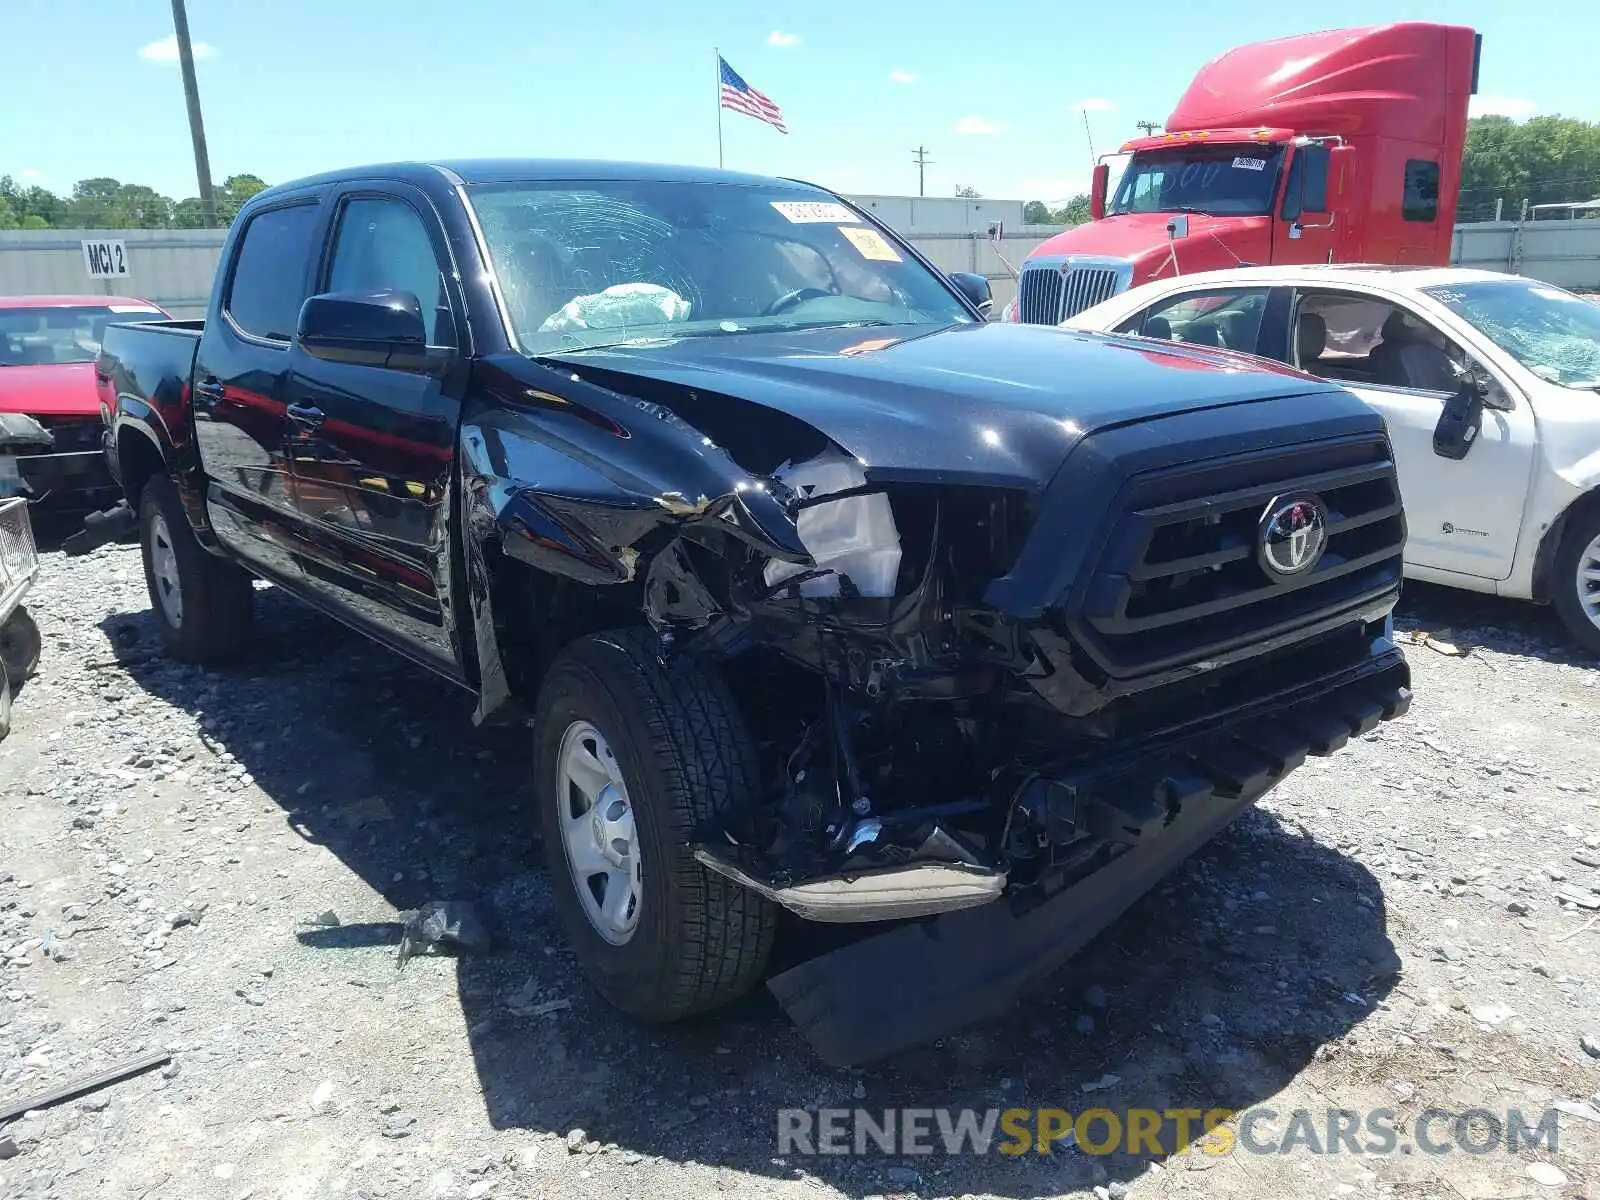
[[[195,670],[155,653],[134,549],[46,555],[43,669],[0,742],[0,1109],[171,1062],[13,1122],[6,1197],[1600,1197],[1600,674],[1541,611],[1413,589],[1406,720],[1006,1019],[835,1072],[765,992],[674,1029],[608,1011],[534,866],[525,731],[259,600],[250,661]],[[432,899],[493,949],[397,968],[397,914]],[[776,1144],[806,1106],[1267,1106],[1269,1141],[1298,1107],[1408,1130],[1557,1101],[1558,1146],[1517,1154]]]

